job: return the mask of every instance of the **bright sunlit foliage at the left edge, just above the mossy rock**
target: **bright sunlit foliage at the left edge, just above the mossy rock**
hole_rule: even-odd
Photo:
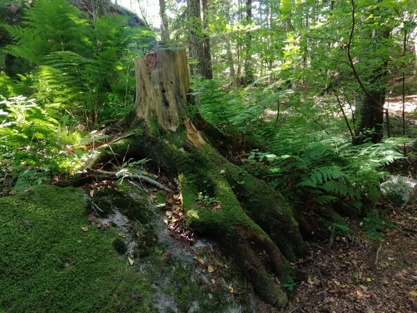
[[[57,120],[42,109],[35,99],[11,97],[0,102],[0,163],[15,177],[15,188],[47,180],[47,172],[75,168],[82,154],[65,150],[79,140],[79,134],[67,133],[64,120]]]

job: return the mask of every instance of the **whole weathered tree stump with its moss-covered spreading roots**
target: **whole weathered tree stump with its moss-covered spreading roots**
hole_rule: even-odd
[[[288,261],[309,255],[291,207],[268,184],[224,159],[187,117],[185,50],[154,51],[136,59],[135,68],[135,135],[114,143],[113,152],[150,157],[176,176],[188,225],[217,239],[263,300],[286,305],[273,277],[281,283],[297,278]],[[202,191],[211,202],[198,200]]]

